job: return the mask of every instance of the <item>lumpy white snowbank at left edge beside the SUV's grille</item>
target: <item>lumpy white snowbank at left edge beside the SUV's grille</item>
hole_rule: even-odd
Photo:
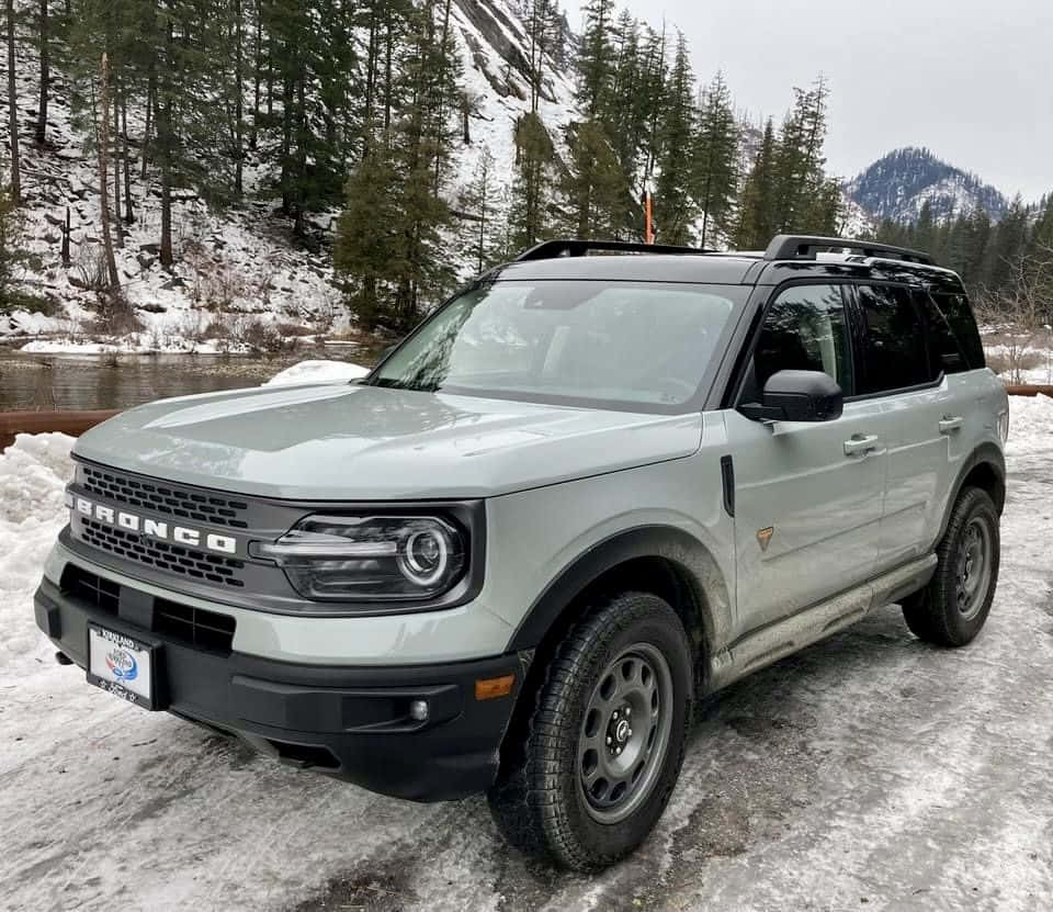
[[[0,668],[9,660],[49,651],[33,621],[30,597],[66,522],[72,446],[65,434],[20,434],[0,454]]]

